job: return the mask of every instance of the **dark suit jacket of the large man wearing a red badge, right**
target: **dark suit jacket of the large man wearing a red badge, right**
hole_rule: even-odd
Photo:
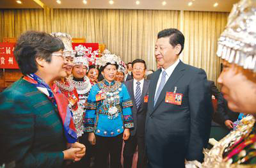
[[[180,61],[154,107],[160,73],[161,69],[153,73],[148,88],[145,141],[149,167],[170,167],[177,160],[184,162],[185,157],[202,161],[213,111],[206,74]],[[173,92],[175,87],[176,93],[183,94],[181,105],[164,102],[166,92]]]

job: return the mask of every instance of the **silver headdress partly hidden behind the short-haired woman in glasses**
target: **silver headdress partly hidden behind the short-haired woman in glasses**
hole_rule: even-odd
[[[75,52],[72,49],[72,37],[67,33],[51,33],[52,36],[60,38],[60,40],[64,43],[65,49],[63,50],[64,57],[74,57]]]

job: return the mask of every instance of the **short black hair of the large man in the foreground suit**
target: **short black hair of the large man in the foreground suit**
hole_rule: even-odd
[[[185,37],[178,29],[163,29],[157,34],[157,39],[162,37],[170,37],[169,42],[172,45],[172,47],[175,47],[176,45],[180,44],[181,49],[179,54],[184,49]]]

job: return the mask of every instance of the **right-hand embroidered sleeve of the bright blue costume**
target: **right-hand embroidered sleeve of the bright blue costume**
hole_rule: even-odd
[[[133,123],[133,118],[132,118],[132,100],[129,96],[129,93],[127,91],[127,88],[124,84],[122,84],[122,93],[123,93],[123,98],[122,98],[122,113],[124,116],[124,127],[125,128],[133,128],[134,123]]]

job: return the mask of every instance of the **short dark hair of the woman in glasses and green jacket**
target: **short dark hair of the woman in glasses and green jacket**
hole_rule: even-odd
[[[59,38],[40,31],[26,31],[17,40],[14,56],[23,75],[35,73],[38,68],[36,58],[51,63],[51,54],[63,50],[64,44]]]

